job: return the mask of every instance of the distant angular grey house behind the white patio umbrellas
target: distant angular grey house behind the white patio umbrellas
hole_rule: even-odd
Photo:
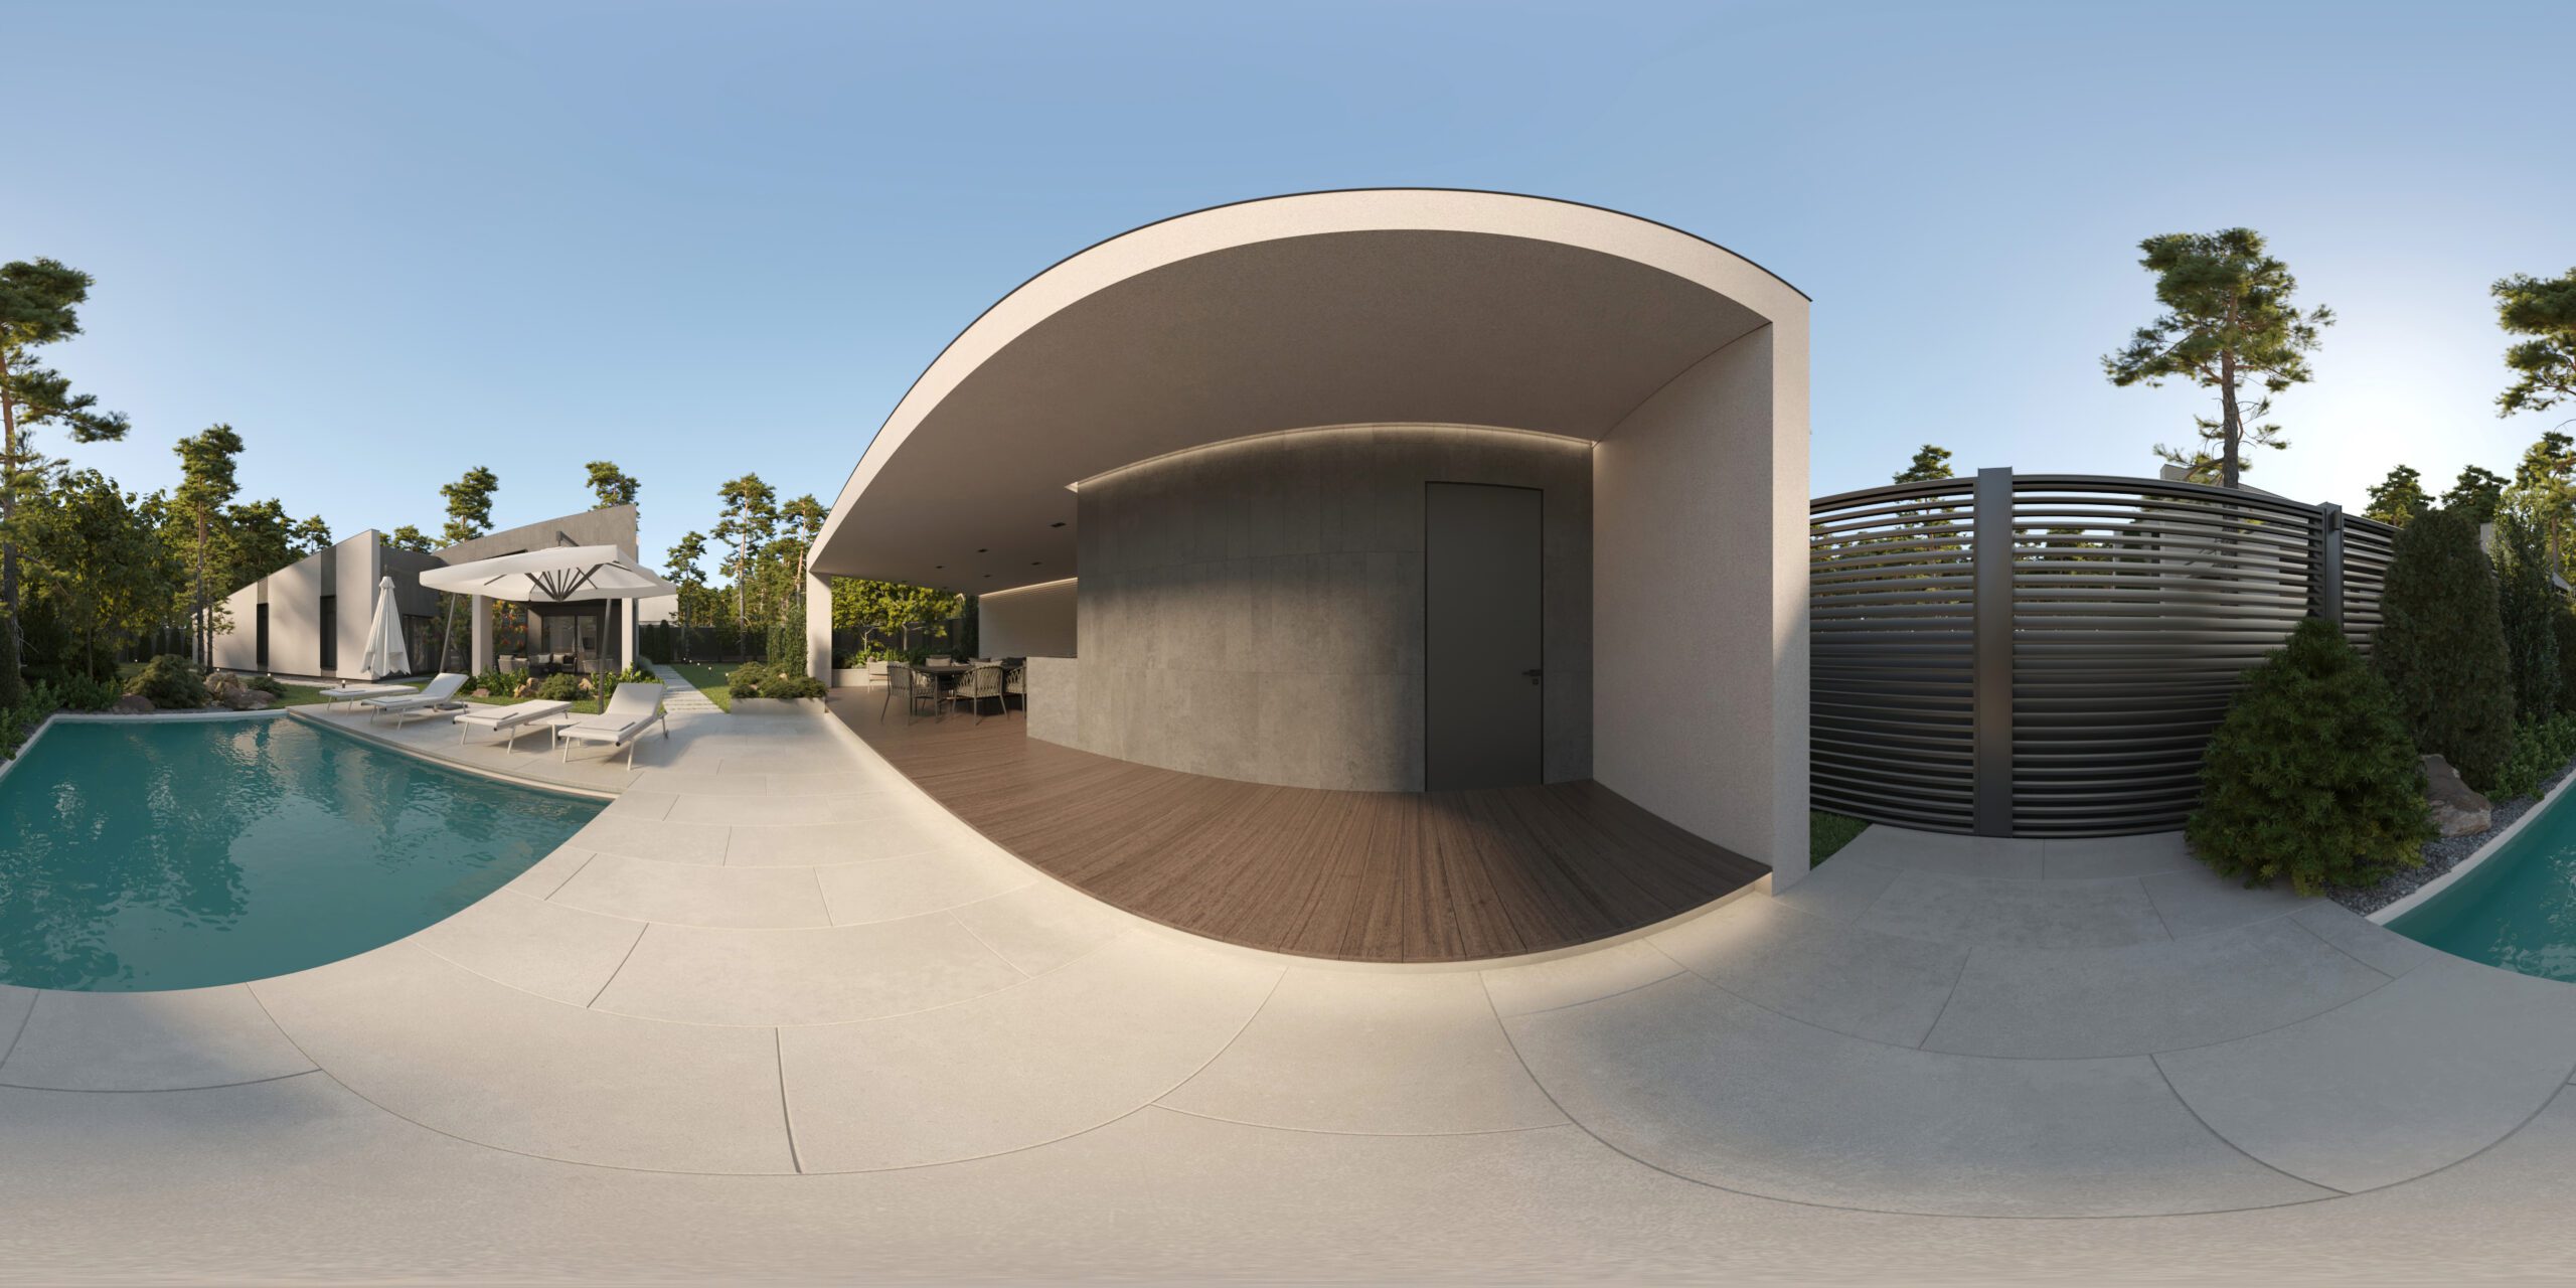
[[[309,554],[268,577],[234,590],[224,605],[232,629],[214,639],[214,665],[242,672],[276,672],[330,680],[376,680],[366,672],[366,629],[376,613],[384,577],[394,580],[402,611],[402,639],[412,670],[438,665],[438,592],[420,585],[433,567],[469,564],[500,554],[544,546],[616,546],[636,556],[634,505],[608,505],[541,523],[523,523],[438,551],[410,551],[384,533],[363,531],[327,551]],[[577,670],[618,667],[634,657],[634,618],[652,616],[644,600],[569,600],[520,605],[523,616],[502,623],[492,600],[466,605],[469,647],[446,670],[520,670],[541,659],[562,659]]]

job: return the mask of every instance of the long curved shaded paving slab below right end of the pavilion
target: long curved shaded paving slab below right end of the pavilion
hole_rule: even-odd
[[[1587,1131],[1728,1190],[1958,1216],[2146,1216],[2326,1195],[2202,1128],[2143,1056],[1911,1051],[1767,1012],[1695,976],[1507,1028]]]

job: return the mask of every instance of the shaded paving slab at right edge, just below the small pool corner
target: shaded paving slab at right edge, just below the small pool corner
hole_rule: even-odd
[[[2295,1025],[2156,1056],[2236,1149],[2334,1190],[2450,1167],[2576,1072],[2576,989],[2460,958]]]

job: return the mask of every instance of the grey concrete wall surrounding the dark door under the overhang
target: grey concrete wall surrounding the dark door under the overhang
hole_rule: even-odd
[[[1079,492],[1074,747],[1255,783],[1422,788],[1422,487],[1546,492],[1546,775],[1592,773],[1589,443],[1278,433]]]

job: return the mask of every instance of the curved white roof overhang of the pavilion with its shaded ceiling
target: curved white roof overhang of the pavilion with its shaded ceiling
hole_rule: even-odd
[[[966,327],[868,443],[814,572],[1079,574],[1072,484],[1257,433],[1435,422],[1600,440],[1806,296],[1692,234],[1476,191],[1280,196],[1146,224]]]

